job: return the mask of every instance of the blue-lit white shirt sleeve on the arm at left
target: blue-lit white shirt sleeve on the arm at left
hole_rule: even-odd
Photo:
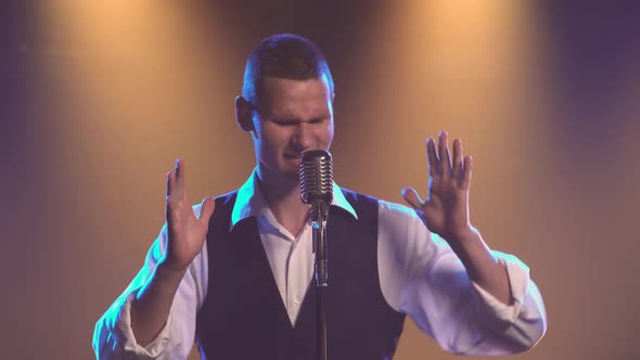
[[[206,243],[184,273],[169,317],[156,338],[146,346],[136,342],[131,330],[130,308],[140,288],[151,279],[156,265],[163,258],[167,241],[166,224],[153,243],[144,266],[125,292],[97,322],[93,333],[93,350],[97,359],[187,359],[195,337],[195,318],[206,292]]]

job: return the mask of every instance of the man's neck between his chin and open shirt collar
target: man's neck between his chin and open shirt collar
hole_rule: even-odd
[[[293,235],[305,226],[308,206],[300,200],[299,180],[283,177],[258,164],[258,185],[276,220]]]

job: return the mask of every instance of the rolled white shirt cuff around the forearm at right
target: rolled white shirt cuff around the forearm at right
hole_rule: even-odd
[[[489,323],[512,324],[522,309],[524,295],[529,283],[529,268],[513,255],[492,250],[492,255],[507,270],[507,278],[511,287],[512,305],[507,305],[477,283],[472,281],[476,304],[481,313]]]

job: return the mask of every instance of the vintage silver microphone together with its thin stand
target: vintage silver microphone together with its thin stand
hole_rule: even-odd
[[[333,168],[331,154],[324,150],[310,150],[300,154],[300,196],[310,205],[309,216],[313,228],[313,272],[316,277],[316,337],[318,360],[327,360],[327,304],[329,258],[327,219],[333,201]]]

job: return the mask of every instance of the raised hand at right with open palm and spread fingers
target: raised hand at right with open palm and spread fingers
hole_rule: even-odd
[[[415,209],[426,228],[451,243],[468,237],[473,228],[469,221],[469,188],[471,156],[463,157],[462,142],[453,141],[453,158],[449,154],[447,132],[426,141],[428,188],[423,201],[412,188],[402,189],[402,197]]]

